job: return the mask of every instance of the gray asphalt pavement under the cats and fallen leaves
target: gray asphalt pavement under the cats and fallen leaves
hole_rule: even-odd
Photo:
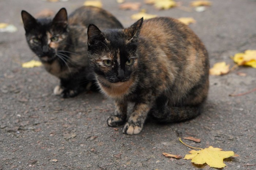
[[[189,0],[180,1],[189,6]],[[240,155],[226,159],[225,169],[256,169],[256,92],[229,96],[256,87],[255,68],[210,76],[208,100],[199,117],[173,124],[147,122],[140,134],[132,136],[122,134],[122,126],[107,126],[113,101],[95,92],[61,99],[53,95],[57,78],[43,67],[22,68],[21,63],[37,58],[25,41],[21,10],[35,15],[45,8],[65,7],[71,13],[83,2],[0,0],[0,22],[18,28],[15,33],[0,33],[0,170],[213,169],[162,155],[188,154],[191,149],[178,141],[187,136],[201,139],[200,143],[184,140],[191,146],[212,145]],[[130,16],[136,11],[118,9],[116,0],[102,2],[125,27],[135,22]],[[211,66],[221,61],[233,66],[230,56],[256,50],[256,1],[212,0],[202,13],[177,8],[158,11],[144,3],[142,8],[158,16],[194,17],[197,22],[190,27],[205,43]]]

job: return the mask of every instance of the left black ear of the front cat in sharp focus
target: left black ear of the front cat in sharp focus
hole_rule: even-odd
[[[96,25],[94,24],[90,24],[88,26],[87,36],[88,36],[88,41],[87,41],[88,46],[91,46],[97,43],[98,41],[104,41],[106,39],[103,33],[101,32],[101,30],[99,30],[99,28],[96,27]]]

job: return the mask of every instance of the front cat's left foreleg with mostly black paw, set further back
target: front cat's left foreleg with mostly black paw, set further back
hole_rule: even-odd
[[[127,102],[115,102],[115,111],[112,116],[107,119],[108,126],[119,126],[124,124],[127,117]]]

